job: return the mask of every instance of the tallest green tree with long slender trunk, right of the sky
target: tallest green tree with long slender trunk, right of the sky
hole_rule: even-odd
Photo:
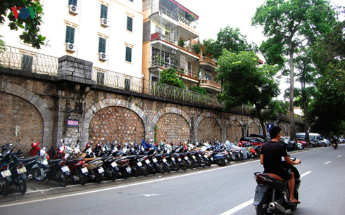
[[[310,46],[318,35],[328,32],[335,20],[335,12],[325,0],[267,0],[252,18],[252,25],[263,26],[263,33],[268,37],[260,47],[267,63],[283,67],[288,62],[289,65],[291,139],[296,139],[294,55],[300,46]]]

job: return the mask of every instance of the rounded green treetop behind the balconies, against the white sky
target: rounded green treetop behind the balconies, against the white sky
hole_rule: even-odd
[[[223,28],[218,32],[217,39],[204,39],[203,44],[206,46],[206,53],[213,53],[213,57],[218,59],[222,55],[222,49],[233,53],[240,51],[252,51],[252,46],[246,41],[246,37],[239,32],[239,29],[232,27]]]

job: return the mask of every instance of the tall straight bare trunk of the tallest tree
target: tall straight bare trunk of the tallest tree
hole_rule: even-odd
[[[294,116],[294,47],[292,37],[289,38],[289,65],[290,65],[290,94],[289,94],[289,114],[290,114],[290,139],[296,141],[295,116]]]

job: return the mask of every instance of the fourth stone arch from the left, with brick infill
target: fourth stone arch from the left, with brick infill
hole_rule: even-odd
[[[212,118],[215,121],[213,121],[211,119],[208,119],[208,122],[204,121],[203,124],[201,124],[201,122],[205,118]],[[215,129],[214,130],[214,134],[212,134],[212,135],[201,134],[203,131],[205,131],[206,126],[208,124],[212,126],[208,130]],[[199,126],[201,126],[200,129],[199,129]],[[219,127],[219,130],[218,130],[218,127]],[[203,112],[198,117],[198,119],[196,119],[194,129],[196,131],[196,135],[195,135],[196,141],[202,141],[202,140],[214,141],[215,138],[217,138],[217,140],[222,141],[222,131],[223,131],[223,129],[222,129],[222,122],[221,122],[220,118],[217,115],[215,115],[214,113]]]

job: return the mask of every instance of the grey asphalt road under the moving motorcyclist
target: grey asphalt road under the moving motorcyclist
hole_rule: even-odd
[[[345,145],[294,155],[304,165],[301,204],[287,214],[344,214]],[[258,160],[146,181],[0,204],[0,214],[256,214]]]

